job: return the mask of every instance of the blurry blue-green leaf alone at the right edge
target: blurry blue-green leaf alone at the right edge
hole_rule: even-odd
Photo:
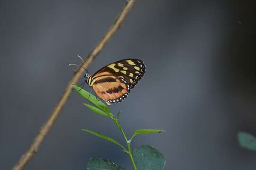
[[[238,132],[238,143],[243,148],[256,151],[256,137],[247,132]]]

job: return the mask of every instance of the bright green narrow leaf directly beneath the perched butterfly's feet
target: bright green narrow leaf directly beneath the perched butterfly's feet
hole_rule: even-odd
[[[106,113],[111,114],[109,108],[103,102],[101,102],[101,100],[97,99],[95,97],[95,95],[87,92],[84,89],[81,89],[81,87],[79,87],[77,85],[73,85],[73,84],[71,84],[71,85],[88,102],[91,102],[91,104],[93,104],[94,106],[98,107],[99,109],[105,111]]]

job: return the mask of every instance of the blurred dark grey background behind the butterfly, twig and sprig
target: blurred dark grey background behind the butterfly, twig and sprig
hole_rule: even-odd
[[[0,169],[9,170],[32,142],[83,58],[106,33],[125,0],[0,1]],[[150,144],[165,170],[255,170],[256,152],[237,132],[256,135],[255,0],[138,0],[89,71],[137,58],[147,71],[122,111],[134,148]],[[83,79],[81,79],[81,82]],[[85,86],[86,90],[91,90]],[[132,169],[115,144],[81,128],[123,138],[109,119],[73,92],[26,170],[85,170],[90,157]]]

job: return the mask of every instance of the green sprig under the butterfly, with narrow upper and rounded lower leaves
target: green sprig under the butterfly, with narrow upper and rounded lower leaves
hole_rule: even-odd
[[[120,111],[118,112],[117,117],[115,117],[110,112],[109,108],[103,102],[101,102],[99,99],[97,99],[93,94],[87,92],[84,89],[81,89],[77,85],[72,85],[72,86],[84,99],[86,99],[88,102],[90,102],[93,105],[92,106],[90,104],[83,103],[89,110],[92,110],[93,112],[98,113],[101,116],[109,117],[116,123],[117,127],[121,131],[122,136],[124,137],[124,139],[126,141],[127,148],[125,148],[122,144],[120,144],[115,139],[113,139],[109,136],[103,135],[99,132],[95,132],[95,131],[88,130],[88,129],[82,129],[82,131],[86,131],[86,132],[91,133],[92,135],[98,136],[104,140],[108,140],[113,144],[119,145],[122,148],[122,151],[124,151],[125,153],[127,153],[129,155],[129,158],[132,162],[134,170],[162,170],[164,168],[165,157],[163,156],[162,153],[160,153],[155,148],[152,148],[151,146],[148,146],[148,145],[138,146],[135,149],[134,153],[132,153],[131,141],[137,135],[140,135],[140,134],[161,133],[161,132],[165,132],[165,130],[137,129],[137,130],[135,130],[134,134],[128,139],[123,128],[121,127],[121,125],[119,123],[119,117],[120,117],[120,113],[121,113]],[[144,153],[146,155],[144,157],[141,157],[140,155],[144,155]],[[137,159],[134,159],[134,156],[136,156]],[[144,163],[145,161],[150,162],[150,164],[145,164]],[[108,163],[106,163],[106,162],[108,162]],[[109,162],[108,160],[103,160],[103,159],[99,159],[99,158],[93,158],[88,162],[88,168],[90,167],[90,170],[91,169],[96,170],[97,169],[96,167],[99,167],[99,166],[106,168],[106,170],[112,170],[113,165],[115,165],[114,162]],[[137,166],[138,166],[138,168],[137,168]],[[108,167],[109,167],[109,169],[108,169]],[[115,170],[123,170],[122,167],[120,167],[120,166],[118,166],[118,167],[119,168],[117,168]]]

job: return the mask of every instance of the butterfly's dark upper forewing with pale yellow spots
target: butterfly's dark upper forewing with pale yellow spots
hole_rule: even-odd
[[[113,62],[100,70],[98,70],[93,76],[92,81],[96,81],[102,76],[114,75],[123,78],[130,88],[135,87],[137,82],[144,76],[146,71],[146,65],[140,59],[122,59]]]

